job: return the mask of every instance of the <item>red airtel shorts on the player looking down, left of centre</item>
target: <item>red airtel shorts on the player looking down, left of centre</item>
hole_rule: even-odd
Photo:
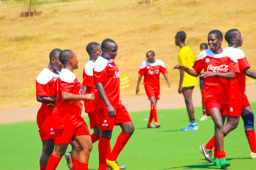
[[[112,130],[118,123],[132,122],[123,104],[120,104],[119,108],[115,109],[116,118],[110,118],[106,109],[95,109],[95,111],[99,118],[100,130]]]

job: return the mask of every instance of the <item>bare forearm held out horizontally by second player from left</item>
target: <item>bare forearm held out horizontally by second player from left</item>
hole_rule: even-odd
[[[69,92],[60,92],[61,98],[65,101],[77,101],[77,100],[94,100],[95,96],[93,94],[85,95],[75,95]]]

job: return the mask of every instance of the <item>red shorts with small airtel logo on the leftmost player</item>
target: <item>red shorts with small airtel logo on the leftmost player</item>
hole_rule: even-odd
[[[54,139],[52,112],[54,107],[43,106],[37,113],[37,124],[41,140]]]

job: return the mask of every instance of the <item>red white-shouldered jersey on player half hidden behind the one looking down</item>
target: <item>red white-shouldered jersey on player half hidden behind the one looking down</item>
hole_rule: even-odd
[[[84,66],[84,71],[83,71],[83,83],[82,85],[87,86],[86,93],[91,93],[94,94],[97,92],[96,86],[93,82],[93,66],[94,62],[91,60],[88,60]],[[93,108],[93,100],[84,100],[84,107],[85,107],[85,112],[95,112]]]

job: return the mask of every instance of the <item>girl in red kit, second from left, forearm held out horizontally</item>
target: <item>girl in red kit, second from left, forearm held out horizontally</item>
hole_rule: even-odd
[[[63,50],[59,60],[64,68],[57,79],[57,101],[53,110],[55,129],[55,150],[49,157],[46,170],[55,170],[65,154],[69,142],[75,140],[82,148],[79,155],[80,170],[88,170],[88,160],[93,147],[89,129],[80,115],[81,100],[94,100],[93,94],[80,95],[81,83],[73,73],[78,68],[78,60],[71,50]],[[74,167],[73,167],[73,170]]]

